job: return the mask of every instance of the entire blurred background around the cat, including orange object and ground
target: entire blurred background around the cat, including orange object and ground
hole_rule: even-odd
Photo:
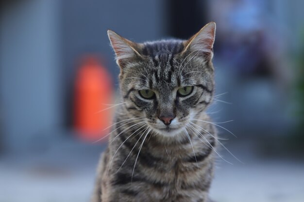
[[[217,23],[218,202],[304,201],[304,1],[4,0],[0,202],[88,202],[119,103],[106,31],[143,42]],[[112,108],[113,107],[113,108]],[[108,109],[109,108],[109,109]],[[100,111],[100,113],[96,113]]]

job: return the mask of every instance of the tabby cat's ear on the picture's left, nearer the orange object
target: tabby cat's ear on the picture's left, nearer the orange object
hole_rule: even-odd
[[[116,63],[123,69],[128,63],[134,62],[139,54],[139,45],[119,36],[114,31],[108,30],[111,45],[116,54]]]

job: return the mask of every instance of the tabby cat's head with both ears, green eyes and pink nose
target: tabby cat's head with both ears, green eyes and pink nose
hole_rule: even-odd
[[[189,40],[146,43],[108,31],[120,67],[120,89],[130,118],[142,117],[153,131],[173,137],[212,100],[216,24]]]

